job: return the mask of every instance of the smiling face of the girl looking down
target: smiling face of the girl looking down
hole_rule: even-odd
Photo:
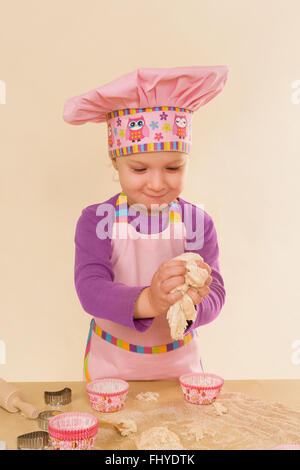
[[[182,192],[189,160],[182,152],[151,152],[117,157],[112,162],[128,204],[151,211],[151,206],[166,207]]]

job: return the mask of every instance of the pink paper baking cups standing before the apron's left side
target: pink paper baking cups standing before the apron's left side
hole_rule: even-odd
[[[86,386],[92,408],[103,413],[121,410],[125,405],[128,390],[129,383],[116,378],[92,380]]]

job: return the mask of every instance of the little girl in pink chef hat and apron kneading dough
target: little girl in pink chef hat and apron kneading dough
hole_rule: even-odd
[[[202,372],[196,328],[225,301],[212,218],[180,197],[191,152],[193,112],[223,89],[226,66],[140,68],[69,99],[64,120],[106,122],[109,156],[122,191],[83,209],[75,234],[75,286],[93,318],[84,379],[177,380]],[[185,282],[185,252],[209,277],[190,288],[197,316],[174,341],[171,292]]]

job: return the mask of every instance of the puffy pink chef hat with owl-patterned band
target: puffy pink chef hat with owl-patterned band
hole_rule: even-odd
[[[114,159],[139,152],[190,153],[192,116],[220,93],[228,67],[139,68],[67,100],[70,124],[105,122]]]

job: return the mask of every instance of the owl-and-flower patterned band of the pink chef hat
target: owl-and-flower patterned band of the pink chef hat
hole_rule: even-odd
[[[106,114],[111,159],[134,153],[189,154],[193,111],[174,106],[119,109]]]

